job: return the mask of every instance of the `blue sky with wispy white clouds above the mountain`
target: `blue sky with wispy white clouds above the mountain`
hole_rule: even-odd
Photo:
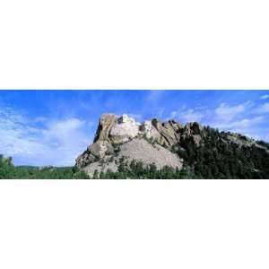
[[[269,91],[0,91],[0,153],[16,165],[73,165],[103,113],[198,121],[269,141]]]

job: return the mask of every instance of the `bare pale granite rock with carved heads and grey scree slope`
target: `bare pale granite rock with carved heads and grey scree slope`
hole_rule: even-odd
[[[76,166],[89,175],[94,169],[117,171],[117,159],[124,156],[145,164],[154,162],[159,169],[166,165],[181,169],[183,160],[170,149],[180,143],[200,144],[203,135],[204,127],[198,123],[184,126],[157,118],[139,123],[125,114],[105,114],[100,117],[93,143],[76,159]]]

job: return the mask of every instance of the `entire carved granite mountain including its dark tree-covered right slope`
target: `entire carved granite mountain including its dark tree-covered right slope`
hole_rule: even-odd
[[[90,178],[269,178],[269,144],[196,122],[106,114],[75,166]]]

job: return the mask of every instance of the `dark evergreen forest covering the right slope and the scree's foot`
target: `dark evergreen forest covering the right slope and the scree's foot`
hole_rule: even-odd
[[[219,132],[210,127],[204,127],[204,132],[203,143],[199,145],[190,140],[172,147],[172,152],[185,161],[180,171],[167,166],[157,170],[154,164],[143,167],[141,161],[130,164],[121,161],[117,172],[101,172],[100,175],[96,172],[94,177],[269,178],[269,143],[255,142],[247,136]]]

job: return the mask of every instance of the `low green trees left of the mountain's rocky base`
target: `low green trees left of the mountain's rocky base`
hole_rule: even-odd
[[[11,158],[0,155],[0,178],[39,178],[39,179],[69,179],[89,178],[85,172],[75,167],[45,167],[13,166]]]

